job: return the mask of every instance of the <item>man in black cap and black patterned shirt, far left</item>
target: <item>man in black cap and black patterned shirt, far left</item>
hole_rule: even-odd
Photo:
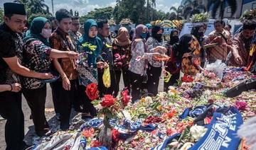
[[[10,91],[0,93],[0,115],[6,119],[6,149],[25,149],[24,116],[21,110],[21,92],[16,92],[14,83],[19,83],[18,74],[39,79],[51,79],[52,74],[31,71],[21,65],[22,39],[19,33],[26,25],[23,4],[4,4],[4,23],[0,25],[0,84],[9,84]],[[18,84],[17,84],[18,85]]]

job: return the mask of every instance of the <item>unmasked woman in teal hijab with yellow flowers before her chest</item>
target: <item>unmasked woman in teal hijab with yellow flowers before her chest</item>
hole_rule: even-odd
[[[92,19],[88,19],[84,24],[84,35],[78,40],[78,79],[80,84],[80,98],[83,102],[83,112],[87,113],[87,117],[96,116],[96,109],[87,96],[85,90],[90,83],[98,83],[97,68],[107,68],[107,63],[103,62],[100,56],[102,50],[102,42],[97,37],[97,23]]]

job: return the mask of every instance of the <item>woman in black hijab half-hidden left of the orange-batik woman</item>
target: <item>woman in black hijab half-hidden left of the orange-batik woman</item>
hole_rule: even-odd
[[[171,56],[171,47],[178,42],[178,30],[174,29],[171,30],[170,33],[170,40],[166,43],[165,47],[167,48],[167,54]],[[168,91],[169,86],[174,86],[174,83],[177,83],[177,80],[179,79],[180,72],[179,70],[176,70],[176,67],[173,66],[172,62],[166,62],[165,64],[165,71],[167,74],[171,74],[171,78],[169,81],[164,81],[164,91]]]

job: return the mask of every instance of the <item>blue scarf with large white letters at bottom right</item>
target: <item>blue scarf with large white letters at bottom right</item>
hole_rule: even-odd
[[[238,128],[242,125],[242,115],[231,107],[226,115],[213,113],[213,119],[206,134],[189,150],[232,150],[238,149],[240,138]]]

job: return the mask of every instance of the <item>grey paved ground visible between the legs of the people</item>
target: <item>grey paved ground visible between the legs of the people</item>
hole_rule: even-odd
[[[122,79],[120,80],[120,89],[124,87],[124,83]],[[160,80],[159,83],[159,91],[163,91],[163,80]],[[26,103],[26,99],[22,98],[22,110],[25,117],[25,134],[26,134],[26,142],[30,143],[31,138],[34,136],[34,126],[33,121],[29,119],[31,115],[31,110],[28,108],[28,104]],[[50,126],[58,125],[58,121],[55,119],[55,113],[53,109],[53,101],[51,96],[50,86],[47,86],[47,97],[46,97],[46,119],[48,120]],[[0,121],[0,150],[4,150],[6,148],[6,144],[4,141],[4,125],[6,121]],[[14,135],[15,136],[15,135]]]

